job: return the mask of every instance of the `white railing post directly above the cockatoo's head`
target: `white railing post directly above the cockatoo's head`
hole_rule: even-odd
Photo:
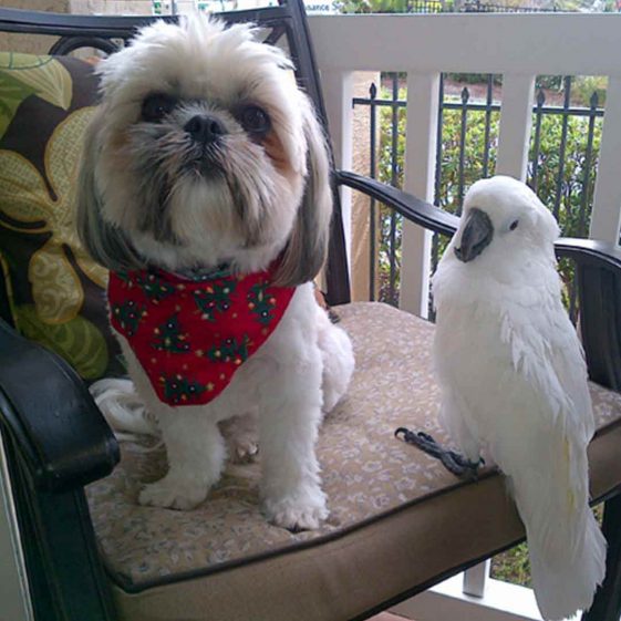
[[[534,99],[534,75],[511,73],[504,76],[496,162],[498,175],[526,180]]]

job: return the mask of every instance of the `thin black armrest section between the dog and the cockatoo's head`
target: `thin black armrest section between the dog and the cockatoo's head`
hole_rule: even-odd
[[[459,218],[457,216],[448,214],[448,211],[444,211],[444,209],[435,205],[425,203],[412,194],[371,179],[370,177],[338,170],[335,173],[335,182],[338,185],[358,189],[375,198],[380,203],[392,207],[410,221],[435,232],[452,236],[459,226]]]

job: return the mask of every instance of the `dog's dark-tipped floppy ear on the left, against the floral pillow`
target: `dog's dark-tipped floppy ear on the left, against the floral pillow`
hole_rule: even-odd
[[[102,197],[95,175],[101,149],[99,133],[103,123],[104,111],[99,108],[84,138],[82,167],[77,179],[77,235],[89,255],[105,268],[114,271],[139,269],[144,267],[144,262],[127,238],[103,218]]]

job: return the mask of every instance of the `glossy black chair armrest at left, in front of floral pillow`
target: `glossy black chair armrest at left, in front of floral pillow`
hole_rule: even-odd
[[[102,478],[120,459],[114,434],[73,369],[1,320],[0,425],[48,491]]]

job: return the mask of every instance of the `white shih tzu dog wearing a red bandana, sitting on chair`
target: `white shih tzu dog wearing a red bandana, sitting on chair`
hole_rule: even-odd
[[[111,323],[166,445],[139,501],[201,503],[226,458],[218,423],[258,411],[265,513],[310,529],[328,515],[318,426],[353,354],[313,296],[329,166],[290,70],[248,25],[145,28],[97,70],[77,226],[111,269]]]

